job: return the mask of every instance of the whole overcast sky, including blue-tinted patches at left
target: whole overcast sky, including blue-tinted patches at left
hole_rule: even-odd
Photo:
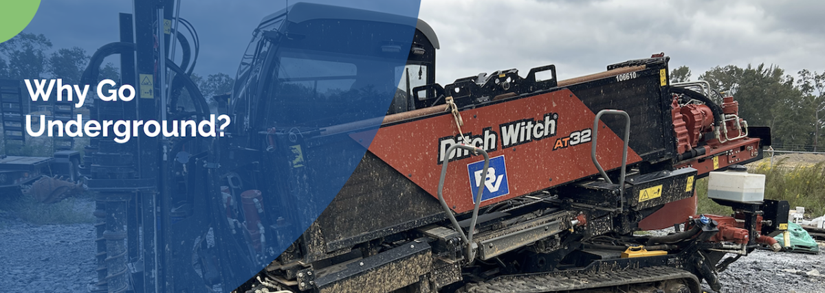
[[[354,1],[379,8],[384,0]],[[181,17],[200,35],[196,73],[233,76],[252,30],[285,3],[181,0]],[[55,49],[79,46],[91,55],[118,40],[118,12],[131,12],[131,1],[52,0],[24,31],[46,35]],[[728,64],[823,72],[823,13],[825,2],[814,0],[422,0],[419,17],[440,40],[436,80],[443,85],[510,68],[525,75],[546,64],[565,79],[660,52],[671,68],[691,67],[694,80]]]

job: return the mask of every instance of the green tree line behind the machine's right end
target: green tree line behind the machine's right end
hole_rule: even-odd
[[[671,82],[691,81],[691,69],[677,67]],[[751,126],[769,126],[777,150],[825,151],[825,72],[803,69],[793,77],[761,63],[713,67],[698,77],[739,102],[739,115]]]

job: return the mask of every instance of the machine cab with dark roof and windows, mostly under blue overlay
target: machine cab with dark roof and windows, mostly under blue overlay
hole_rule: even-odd
[[[412,44],[399,32],[414,32]],[[235,131],[323,128],[430,106],[435,97],[416,99],[413,89],[435,82],[438,48],[421,20],[297,3],[253,33],[229,105]]]

